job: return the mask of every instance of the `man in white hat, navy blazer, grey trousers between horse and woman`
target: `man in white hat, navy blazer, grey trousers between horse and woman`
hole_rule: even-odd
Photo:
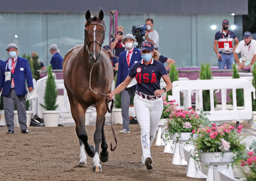
[[[126,79],[133,64],[141,60],[140,50],[133,46],[135,41],[136,39],[130,33],[126,34],[125,38],[123,38],[123,42],[125,43],[125,47],[127,48],[127,50],[123,51],[119,55],[116,87]],[[134,97],[135,95],[135,88],[136,85],[130,88],[126,88],[121,92],[123,129],[119,133],[130,133],[129,106],[130,97]]]

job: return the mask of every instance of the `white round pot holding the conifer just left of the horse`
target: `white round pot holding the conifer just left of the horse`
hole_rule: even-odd
[[[45,127],[57,127],[59,125],[60,111],[42,111]]]

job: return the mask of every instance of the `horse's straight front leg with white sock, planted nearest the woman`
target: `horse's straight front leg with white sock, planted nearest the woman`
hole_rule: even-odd
[[[105,113],[106,113],[106,105],[105,102],[96,105],[96,111],[97,111],[97,118],[96,118],[96,130],[94,133],[94,143],[95,143],[95,154],[93,157],[93,171],[101,172],[102,168],[99,164],[99,145],[102,140],[102,134],[101,134],[101,128],[104,125],[105,122]]]

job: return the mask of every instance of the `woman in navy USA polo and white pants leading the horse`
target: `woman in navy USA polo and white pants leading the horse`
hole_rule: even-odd
[[[159,52],[151,42],[144,42],[141,46],[142,60],[135,63],[126,79],[109,95],[109,100],[124,90],[135,77],[137,80],[134,109],[141,130],[142,163],[148,170],[153,168],[150,147],[155,139],[158,123],[163,112],[162,94],[173,88],[165,66],[156,61]],[[160,88],[163,77],[166,87]]]

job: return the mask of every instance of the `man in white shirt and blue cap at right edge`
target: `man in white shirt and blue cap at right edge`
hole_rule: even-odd
[[[238,70],[251,67],[256,61],[256,40],[252,39],[252,33],[246,31],[243,34],[244,40],[240,41],[236,47],[234,58],[238,65]],[[241,53],[239,60],[238,54]]]

